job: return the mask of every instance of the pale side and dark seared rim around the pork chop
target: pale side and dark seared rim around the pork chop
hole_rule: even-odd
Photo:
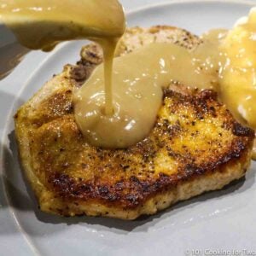
[[[165,35],[162,32],[164,29],[174,32],[173,35],[175,36],[172,35],[168,38],[172,42],[177,38],[177,42],[175,41],[174,43],[183,44],[184,47],[189,49],[200,44],[200,40],[189,34],[189,32],[173,27],[152,27],[149,29],[149,37],[148,31],[135,28],[126,33],[125,36],[127,38],[121,42],[118,54],[128,53],[136,49],[138,45],[152,43],[152,40],[165,42],[168,32]],[[146,37],[144,33],[147,34]],[[139,41],[136,41],[136,34],[139,35],[137,37]],[[151,34],[154,36],[152,37]],[[188,37],[189,39],[187,39]],[[125,41],[128,43],[125,44]],[[157,181],[154,180],[150,184],[143,183],[137,177],[131,177],[129,181],[125,181],[123,184],[119,183],[115,188],[118,191],[124,186],[125,188],[134,189],[136,192],[125,198],[125,201],[121,204],[120,199],[116,197],[119,193],[116,195],[111,193],[110,188],[106,188],[106,186],[99,188],[90,187],[90,184],[74,183],[71,177],[65,175],[53,174],[51,177],[51,182],[58,184],[55,186],[56,190],[46,187],[44,182],[40,181],[36,173],[33,172],[30,155],[31,134],[29,130],[25,132],[22,126],[26,125],[28,116],[31,116],[33,112],[36,113],[38,106],[44,102],[45,98],[54,94],[63,97],[61,93],[63,90],[67,92],[67,95],[65,93],[64,96],[67,96],[67,98],[64,101],[61,99],[62,105],[59,106],[60,108],[52,109],[54,113],[44,116],[44,121],[50,122],[52,119],[61,118],[63,114],[72,113],[73,108],[70,105],[70,95],[72,94],[73,87],[84,83],[84,80],[90,76],[93,68],[102,62],[101,50],[95,44],[82,49],[81,55],[82,59],[78,62],[77,66],[67,65],[64,72],[54,78],[54,83],[44,85],[44,88],[36,96],[20,108],[16,116],[16,136],[20,148],[20,159],[43,211],[67,216],[87,214],[132,219],[137,218],[141,214],[152,214],[157,210],[170,206],[176,201],[188,199],[204,191],[221,189],[225,184],[244,175],[250,162],[253,135],[250,130],[241,127],[241,125],[234,124],[234,134],[249,137],[246,144],[237,143],[234,150],[222,160],[218,160],[218,163],[215,162],[210,166],[190,166],[182,178],[168,177],[163,173],[160,174]],[[166,92],[166,95],[168,93],[172,94],[172,92]],[[38,125],[43,125],[40,124],[41,118],[37,120],[39,122]],[[88,191],[92,191],[94,195],[87,196]],[[73,196],[74,194],[77,194],[82,200],[78,200],[78,197]],[[84,197],[84,195],[86,196]]]

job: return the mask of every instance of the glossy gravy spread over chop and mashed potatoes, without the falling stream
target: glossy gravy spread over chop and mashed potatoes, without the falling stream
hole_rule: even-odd
[[[115,58],[111,118],[102,112],[103,75],[102,67],[97,67],[74,97],[77,123],[84,136],[90,143],[106,148],[126,148],[139,142],[154,126],[162,90],[172,81],[191,88],[218,90],[220,100],[236,119],[255,129],[256,58],[252,40],[256,37],[252,33],[256,29],[249,27],[236,25],[230,31],[209,31],[193,51],[174,44],[149,44]],[[248,59],[249,65],[244,64]]]

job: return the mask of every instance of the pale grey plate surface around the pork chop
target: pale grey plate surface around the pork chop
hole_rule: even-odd
[[[122,1],[127,9],[153,2]],[[212,27],[232,26],[251,6],[246,1],[178,1],[139,9],[128,16],[128,25],[167,24],[200,34]],[[178,256],[186,250],[192,255],[193,249],[237,249],[237,255],[246,255],[241,250],[247,249],[256,255],[255,163],[245,180],[137,221],[59,218],[36,209],[21,177],[12,116],[53,73],[79,59],[83,43],[61,44],[49,54],[32,52],[0,81],[0,175],[7,183],[0,183],[0,255]]]

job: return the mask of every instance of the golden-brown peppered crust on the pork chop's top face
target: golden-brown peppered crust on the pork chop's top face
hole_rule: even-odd
[[[181,106],[189,109],[190,116],[183,117]],[[31,137],[32,155],[40,166],[35,171],[38,175],[44,173],[47,187],[64,201],[93,200],[126,209],[137,207],[148,197],[172,189],[181,181],[212,172],[230,160],[239,159],[252,146],[253,131],[236,123],[216,102],[216,95],[211,90],[194,96],[166,90],[160,113],[163,111],[167,116],[177,116],[177,120],[172,123],[160,114],[151,134],[143,142],[125,150],[88,145],[74,122],[73,114],[63,115],[52,122],[47,120]],[[224,135],[214,131],[212,137],[203,142],[203,132],[190,128],[196,127],[197,122],[214,122],[214,119],[218,119],[214,130]],[[204,127],[207,129],[207,124]],[[176,144],[179,137],[188,135],[191,139],[197,137],[197,143],[202,143],[195,149],[196,154],[186,145],[189,141]],[[215,151],[218,147],[223,148]],[[157,154],[160,150],[168,155],[167,160],[175,161],[176,170],[172,168],[171,174],[169,170],[158,172]],[[210,155],[211,160],[206,155]]]

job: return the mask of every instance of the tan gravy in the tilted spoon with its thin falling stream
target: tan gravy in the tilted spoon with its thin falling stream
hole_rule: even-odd
[[[49,51],[62,41],[84,38],[101,44],[106,70],[105,112],[113,112],[113,54],[125,32],[125,14],[117,0],[0,0],[0,20],[29,49]]]

